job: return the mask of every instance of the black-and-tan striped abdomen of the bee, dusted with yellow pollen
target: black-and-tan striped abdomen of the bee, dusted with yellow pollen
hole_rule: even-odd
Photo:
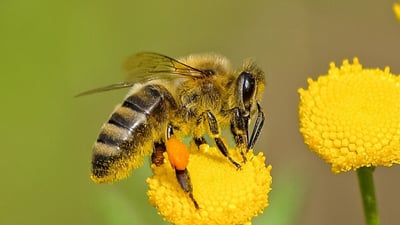
[[[167,116],[176,107],[169,91],[147,85],[128,96],[101,128],[94,145],[92,179],[113,182],[125,178],[151,154],[164,137]]]

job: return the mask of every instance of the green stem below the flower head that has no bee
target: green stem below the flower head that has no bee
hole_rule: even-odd
[[[379,225],[379,214],[376,205],[374,172],[375,167],[361,167],[357,170],[358,184],[364,205],[365,224]]]

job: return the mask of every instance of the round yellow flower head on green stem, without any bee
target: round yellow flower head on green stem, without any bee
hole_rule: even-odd
[[[400,78],[357,58],[299,89],[300,132],[334,173],[400,162]]]

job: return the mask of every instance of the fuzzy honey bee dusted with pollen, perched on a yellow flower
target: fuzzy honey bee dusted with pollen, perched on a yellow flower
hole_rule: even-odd
[[[129,57],[124,70],[128,75],[126,82],[80,94],[131,87],[123,103],[102,126],[94,144],[91,173],[94,182],[111,183],[127,177],[147,155],[159,166],[164,161],[163,153],[175,148],[168,146],[177,146],[169,142],[179,144],[183,137],[190,136],[200,146],[206,143],[205,134],[240,169],[241,163],[231,158],[222,141],[221,129],[230,129],[244,163],[244,152],[253,148],[264,124],[260,106],[264,73],[254,62],[245,62],[241,68],[232,70],[229,61],[217,54],[176,60],[142,52]],[[255,123],[249,136],[251,118],[255,118]],[[186,162],[171,163],[177,180],[198,208],[186,168],[188,151],[175,152],[178,153],[171,153],[169,158],[183,157]]]

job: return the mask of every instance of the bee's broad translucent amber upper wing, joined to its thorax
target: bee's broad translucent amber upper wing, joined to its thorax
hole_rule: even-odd
[[[129,57],[123,65],[127,80],[132,83],[154,79],[171,80],[179,77],[202,78],[205,72],[169,56],[141,52]]]

